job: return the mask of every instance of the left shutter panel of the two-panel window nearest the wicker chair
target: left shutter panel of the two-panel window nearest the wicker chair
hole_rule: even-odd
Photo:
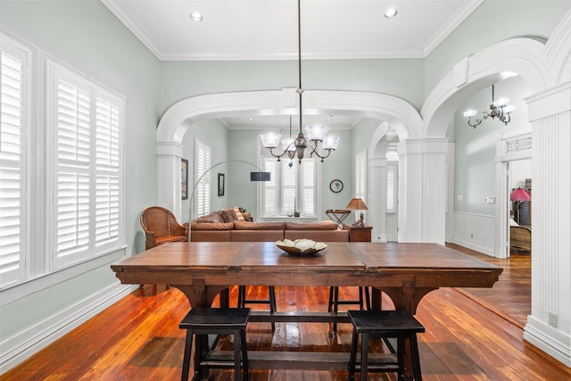
[[[56,73],[56,263],[88,254],[90,244],[90,89]]]

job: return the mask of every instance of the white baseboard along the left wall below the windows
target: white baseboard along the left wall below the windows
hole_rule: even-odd
[[[97,294],[90,295],[82,302],[60,311],[57,315],[36,326],[29,327],[25,331],[4,340],[0,343],[0,348],[2,348],[0,375],[44,349],[47,345],[54,343],[55,340],[68,334],[72,329],[79,327],[114,302],[118,302],[136,287],[115,283]]]

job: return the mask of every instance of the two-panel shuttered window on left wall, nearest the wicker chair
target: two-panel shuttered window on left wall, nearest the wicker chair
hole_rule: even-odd
[[[55,62],[48,73],[58,269],[119,246],[123,102]]]

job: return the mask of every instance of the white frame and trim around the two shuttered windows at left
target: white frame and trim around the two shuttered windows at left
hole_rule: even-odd
[[[24,261],[24,275],[16,280],[10,280],[0,285],[0,305],[16,301],[21,297],[37,293],[46,287],[54,286],[71,277],[77,277],[90,270],[101,268],[112,261],[120,260],[127,254],[125,244],[125,97],[112,89],[97,83],[94,79],[74,70],[47,54],[40,47],[26,42],[21,37],[0,28],[2,46],[6,42],[15,43],[29,54],[28,88],[29,107],[27,140],[25,141],[25,167],[23,175],[25,185],[23,192],[26,211],[23,212],[22,226],[24,227],[23,243],[19,253]],[[53,264],[54,250],[51,230],[54,211],[54,148],[52,147],[51,119],[54,113],[49,109],[53,104],[53,96],[47,93],[51,76],[48,72],[48,62],[54,62],[65,70],[70,71],[103,93],[108,93],[120,100],[119,117],[119,197],[118,197],[118,236],[112,245],[100,245],[90,255],[80,261],[70,262],[55,267]],[[33,218],[32,218],[33,216]],[[32,233],[33,232],[33,233]],[[3,279],[4,280],[4,279]]]

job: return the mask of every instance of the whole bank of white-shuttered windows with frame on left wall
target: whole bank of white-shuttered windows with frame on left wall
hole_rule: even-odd
[[[0,289],[11,302],[124,254],[124,99],[0,38]]]

